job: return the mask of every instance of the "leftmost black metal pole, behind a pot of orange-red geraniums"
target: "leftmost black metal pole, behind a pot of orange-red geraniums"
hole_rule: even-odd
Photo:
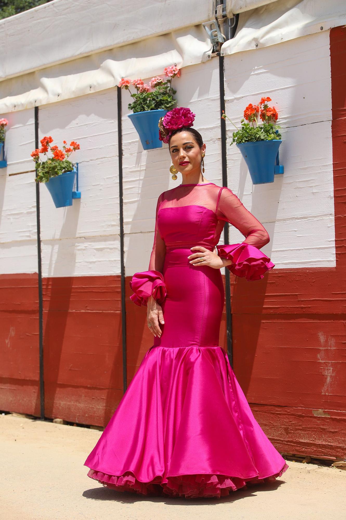
[[[38,148],[38,107],[35,107],[35,148]],[[37,176],[37,172],[35,174]],[[41,257],[41,220],[39,214],[39,183],[36,182],[36,229],[37,229],[37,274],[38,274],[38,342],[39,342],[39,401],[40,419],[45,420],[45,382],[43,367],[43,295],[42,295],[42,257]]]

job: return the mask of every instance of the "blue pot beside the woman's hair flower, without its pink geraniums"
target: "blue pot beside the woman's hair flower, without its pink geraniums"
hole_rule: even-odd
[[[128,114],[138,132],[144,150],[162,148],[162,141],[158,138],[158,120],[167,112],[168,110],[147,110]]]

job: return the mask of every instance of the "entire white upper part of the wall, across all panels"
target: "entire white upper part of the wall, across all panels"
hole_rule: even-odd
[[[148,82],[150,78],[143,78]],[[178,106],[196,113],[194,127],[206,142],[205,176],[222,184],[218,58],[182,69],[173,80]],[[335,266],[331,149],[329,34],[225,57],[226,113],[239,124],[249,102],[269,95],[279,112],[283,175],[253,186],[241,153],[227,147],[228,186],[268,230],[263,251],[275,268]],[[144,151],[122,92],[123,188],[126,275],[147,270],[155,207],[171,179],[168,145]],[[37,272],[34,110],[2,114],[7,170],[0,170],[0,274]],[[233,128],[227,121],[228,139]],[[39,139],[76,140],[81,200],[56,209],[40,185],[43,276],[119,275],[119,189],[116,88],[50,103],[39,109]],[[230,227],[230,242],[243,236]],[[223,242],[221,236],[220,243]]]

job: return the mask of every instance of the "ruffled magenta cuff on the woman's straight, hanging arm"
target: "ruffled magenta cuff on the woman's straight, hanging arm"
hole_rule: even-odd
[[[164,302],[167,290],[163,275],[159,271],[135,272],[129,282],[130,288],[135,294],[131,294],[130,299],[136,305],[148,306],[148,298],[153,296],[154,300],[160,305]]]

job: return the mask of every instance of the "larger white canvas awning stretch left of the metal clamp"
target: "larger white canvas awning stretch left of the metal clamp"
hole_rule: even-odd
[[[183,16],[182,16],[183,12]],[[0,113],[211,58],[212,0],[54,0],[0,21]]]

